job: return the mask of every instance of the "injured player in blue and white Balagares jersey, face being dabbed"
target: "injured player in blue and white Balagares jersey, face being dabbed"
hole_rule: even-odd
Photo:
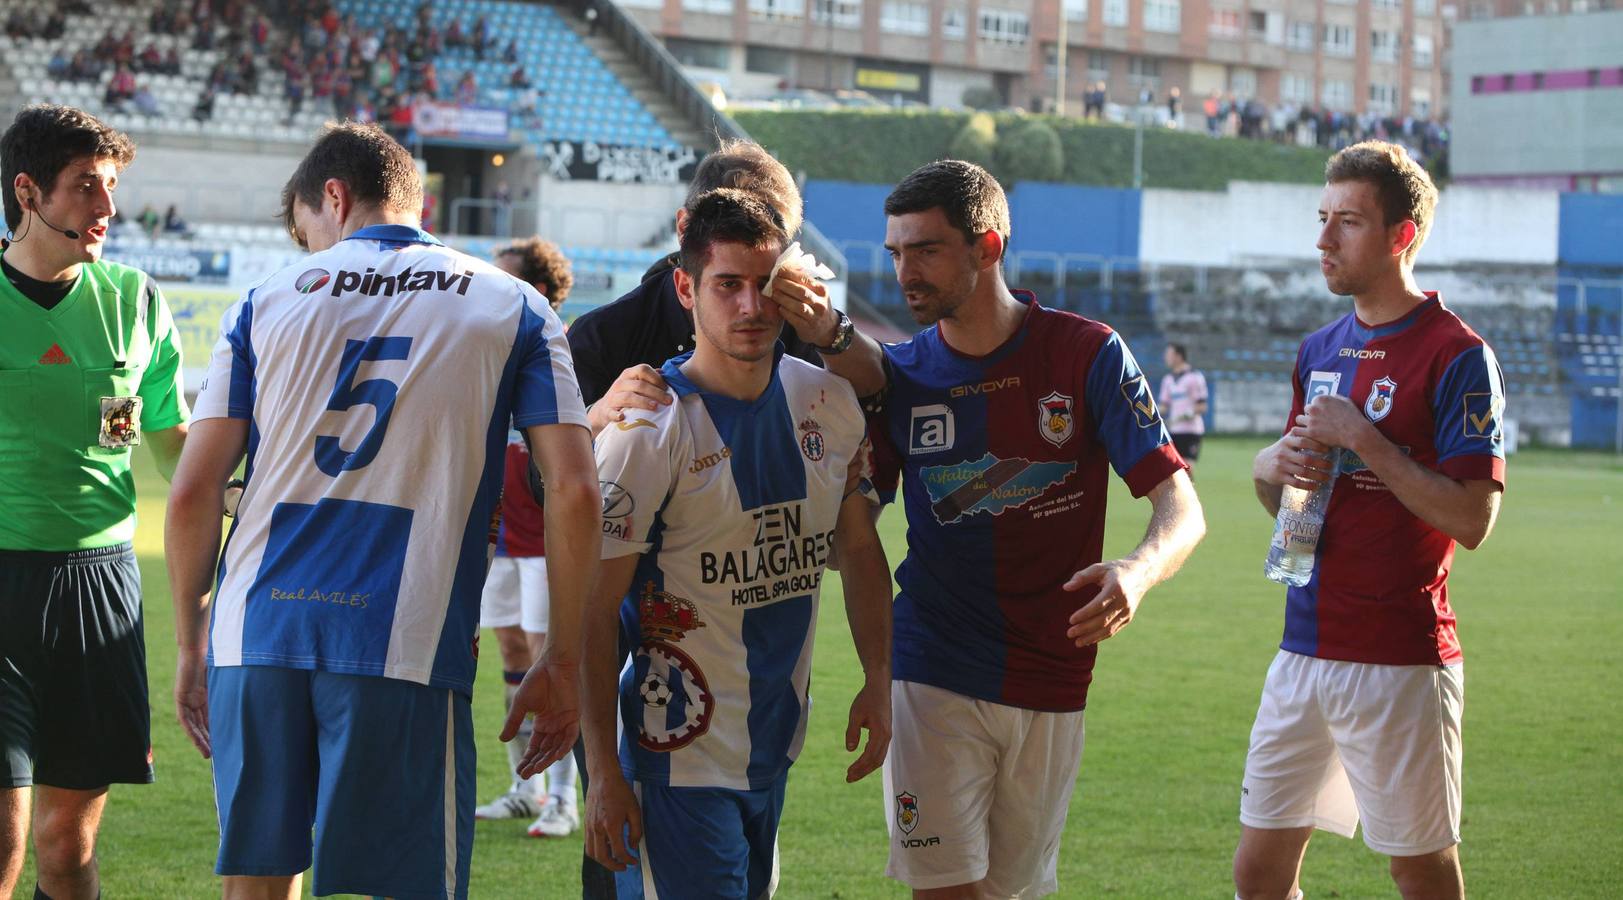
[[[860,488],[862,410],[849,383],[784,355],[763,289],[786,243],[745,191],[693,204],[675,277],[698,345],[661,373],[670,405],[597,438],[607,559],[588,613],[586,845],[618,872],[620,900],[771,895],[834,546],[867,678],[846,749],[862,728],[868,744],[847,780],[889,744],[891,582]],[[618,754],[617,623],[631,647]]]

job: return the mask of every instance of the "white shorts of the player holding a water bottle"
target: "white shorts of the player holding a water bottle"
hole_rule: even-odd
[[[1388,856],[1459,843],[1464,665],[1373,665],[1281,650],[1240,790],[1253,829],[1313,825]]]

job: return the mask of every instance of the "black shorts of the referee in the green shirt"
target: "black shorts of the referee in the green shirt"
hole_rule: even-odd
[[[130,545],[0,550],[0,788],[148,783],[151,733]]]

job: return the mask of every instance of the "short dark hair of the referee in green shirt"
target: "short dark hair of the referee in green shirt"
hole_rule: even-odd
[[[26,172],[49,195],[57,186],[57,175],[81,156],[110,159],[122,172],[135,161],[135,141],[81,109],[55,104],[23,107],[0,136],[6,227],[23,222],[23,204],[13,186],[18,174]]]

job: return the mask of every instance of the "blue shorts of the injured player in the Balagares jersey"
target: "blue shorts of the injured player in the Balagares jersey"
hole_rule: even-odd
[[[636,782],[643,843],[638,864],[615,872],[618,900],[771,897],[787,783],[787,772],[758,791]]]

